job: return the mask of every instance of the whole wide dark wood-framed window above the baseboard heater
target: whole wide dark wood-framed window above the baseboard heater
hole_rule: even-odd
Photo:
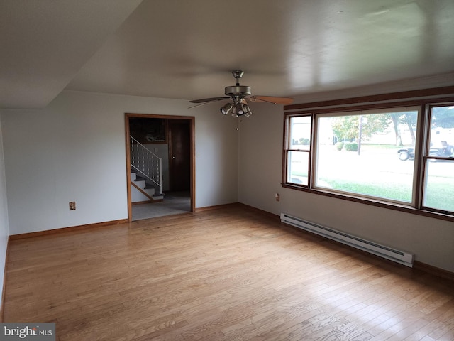
[[[284,187],[454,216],[454,102],[323,107],[285,113]]]

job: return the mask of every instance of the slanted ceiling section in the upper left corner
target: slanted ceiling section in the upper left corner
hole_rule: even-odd
[[[0,107],[45,107],[140,0],[0,0]]]

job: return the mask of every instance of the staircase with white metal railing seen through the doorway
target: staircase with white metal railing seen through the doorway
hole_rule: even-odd
[[[162,159],[130,137],[131,185],[150,201],[162,201]]]

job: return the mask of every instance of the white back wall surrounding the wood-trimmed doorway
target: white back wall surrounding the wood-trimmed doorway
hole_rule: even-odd
[[[128,217],[126,112],[196,117],[196,207],[236,202],[235,121],[216,105],[187,107],[178,99],[64,91],[42,110],[4,110],[10,233]]]

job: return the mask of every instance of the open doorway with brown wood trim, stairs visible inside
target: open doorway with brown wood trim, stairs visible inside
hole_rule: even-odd
[[[126,114],[125,127],[128,220],[194,212],[194,117]]]

